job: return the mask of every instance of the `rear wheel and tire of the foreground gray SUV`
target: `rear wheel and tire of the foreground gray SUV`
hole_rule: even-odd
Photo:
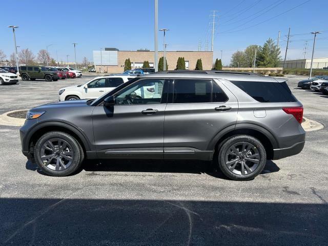
[[[240,149],[244,151],[241,152]],[[262,172],[265,162],[267,153],[263,145],[249,135],[237,135],[226,139],[218,151],[218,166],[222,173],[232,180],[254,179]]]

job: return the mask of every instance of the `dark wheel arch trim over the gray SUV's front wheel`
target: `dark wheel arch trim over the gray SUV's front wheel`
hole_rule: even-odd
[[[90,142],[81,130],[71,124],[60,121],[47,121],[32,128],[25,137],[23,150],[28,150],[30,152],[31,148],[34,148],[37,139],[50,131],[66,132],[72,135],[80,143],[84,153],[91,151]]]

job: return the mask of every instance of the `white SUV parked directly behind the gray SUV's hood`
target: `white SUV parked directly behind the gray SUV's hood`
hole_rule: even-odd
[[[108,75],[95,77],[84,85],[61,88],[59,90],[59,101],[98,98],[132,78],[135,78],[135,76]]]

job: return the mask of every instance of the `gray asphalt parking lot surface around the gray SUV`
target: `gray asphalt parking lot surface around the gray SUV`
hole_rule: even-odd
[[[0,87],[0,113],[58,100],[92,76]],[[303,151],[231,181],[201,161],[87,161],[69,177],[38,172],[18,127],[0,126],[0,244],[327,245],[328,96],[297,89],[304,116],[325,126]]]

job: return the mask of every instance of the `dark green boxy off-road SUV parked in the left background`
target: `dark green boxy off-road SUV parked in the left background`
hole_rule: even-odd
[[[38,66],[20,66],[19,67],[19,76],[23,80],[32,80],[35,79],[45,79],[46,81],[56,81],[59,76],[54,71],[49,71],[46,67]]]

